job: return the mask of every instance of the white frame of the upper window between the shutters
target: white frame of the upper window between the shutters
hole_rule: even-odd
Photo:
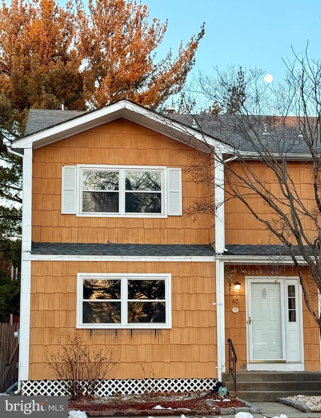
[[[163,211],[161,214],[148,214],[148,213],[115,213],[115,212],[81,212],[81,196],[82,196],[82,171],[83,170],[133,170],[133,171],[161,171],[162,183],[161,183],[161,201]],[[167,218],[168,217],[168,204],[167,204],[167,167],[165,166],[151,166],[151,165],[104,165],[104,164],[78,164],[77,165],[77,179],[78,187],[76,193],[76,217],[106,217],[106,218]],[[125,191],[119,190],[119,207],[124,206]]]

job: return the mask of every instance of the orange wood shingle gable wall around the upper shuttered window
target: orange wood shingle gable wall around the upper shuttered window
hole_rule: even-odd
[[[208,196],[193,182],[189,166],[194,148],[128,120],[118,119],[91,131],[38,148],[33,163],[32,239],[36,242],[209,244],[213,219],[207,214],[167,219],[76,217],[61,215],[62,165],[162,165],[182,167],[183,213],[192,200]]]

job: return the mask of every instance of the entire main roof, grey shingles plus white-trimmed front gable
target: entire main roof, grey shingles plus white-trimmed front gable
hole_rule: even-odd
[[[275,155],[286,154],[287,159],[310,157],[295,116],[163,115],[129,100],[91,112],[31,109],[25,136],[14,141],[12,149],[21,153],[25,147],[39,148],[120,117],[206,153],[214,146],[218,152],[238,150],[245,158],[257,158],[257,151],[261,148],[264,153],[266,147]]]

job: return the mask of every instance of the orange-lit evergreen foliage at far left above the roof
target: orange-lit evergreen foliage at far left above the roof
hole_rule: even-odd
[[[0,8],[0,95],[8,98],[12,125],[22,123],[30,107],[85,107],[70,7],[62,9],[54,0],[13,0]]]

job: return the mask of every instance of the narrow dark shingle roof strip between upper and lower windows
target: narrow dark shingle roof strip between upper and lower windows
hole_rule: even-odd
[[[32,254],[81,256],[214,256],[211,245],[32,243]]]

